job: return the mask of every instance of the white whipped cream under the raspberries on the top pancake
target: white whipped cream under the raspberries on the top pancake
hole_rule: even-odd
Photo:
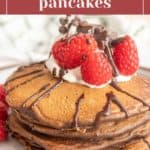
[[[56,77],[59,77],[59,72],[61,70],[61,67],[57,64],[53,55],[51,55],[49,57],[49,59],[46,61],[45,64],[51,73],[53,72],[53,69],[55,68],[56,69],[55,75],[56,75]],[[107,83],[102,84],[100,86],[89,84],[82,79],[80,67],[77,67],[75,69],[68,69],[62,78],[68,82],[82,84],[82,85],[88,86],[90,88],[102,88],[111,82],[111,80],[110,80]],[[119,75],[114,78],[114,80],[116,80],[117,82],[125,82],[130,79],[131,79],[131,76],[123,76],[123,75]]]

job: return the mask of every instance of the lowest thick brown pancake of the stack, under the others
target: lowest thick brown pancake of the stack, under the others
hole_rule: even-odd
[[[35,131],[32,131],[29,126],[21,124],[15,115],[10,115],[9,118],[9,128],[13,134],[21,137],[22,141],[26,141],[29,143],[28,145],[32,148],[33,145],[38,145],[39,147],[45,150],[132,150],[132,145],[134,145],[134,149],[143,150],[143,144],[145,145],[144,150],[149,150],[148,143],[144,142],[141,147],[136,146],[134,141],[141,141],[144,137],[150,134],[150,122],[141,125],[140,127],[132,130],[132,132],[128,132],[121,136],[117,136],[107,140],[99,140],[99,141],[85,141],[85,140],[75,140],[75,139],[66,139],[66,138],[56,138],[52,136],[48,136],[45,134],[41,134]],[[144,140],[143,140],[144,141]],[[148,139],[148,141],[150,141]],[[131,144],[128,144],[132,142]],[[127,146],[125,146],[127,144]]]

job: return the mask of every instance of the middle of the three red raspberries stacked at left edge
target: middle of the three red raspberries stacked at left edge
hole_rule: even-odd
[[[0,101],[0,120],[3,120],[3,121],[7,120],[7,117],[8,117],[7,109],[8,109],[8,106],[4,102]]]

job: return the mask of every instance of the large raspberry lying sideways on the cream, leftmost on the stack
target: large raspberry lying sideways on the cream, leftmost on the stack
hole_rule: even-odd
[[[65,69],[78,67],[89,51],[97,49],[97,42],[90,34],[80,33],[67,40],[57,41],[52,53],[57,63]]]

